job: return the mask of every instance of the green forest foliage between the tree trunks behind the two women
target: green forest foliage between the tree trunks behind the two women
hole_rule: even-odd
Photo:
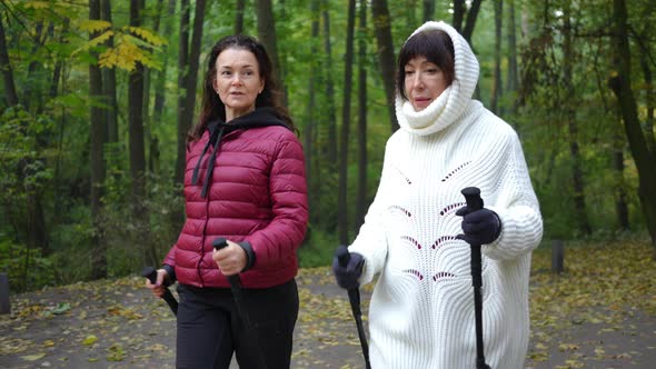
[[[632,235],[643,235],[644,221],[637,198],[638,177],[627,150],[616,101],[607,87],[616,72],[610,54],[610,38],[598,34],[613,22],[610,2],[597,7],[571,3],[573,52],[564,53],[564,1],[515,2],[517,44],[521,89],[501,97],[500,106],[518,107],[514,114],[499,116],[519,133],[535,190],[545,221],[545,239],[615,239],[625,237],[620,229],[616,200],[622,191],[629,210]],[[92,239],[101,236],[107,246],[110,276],[125,276],[139,270],[149,260],[161,260],[181,227],[175,213],[183,209],[181,189],[171,180],[177,157],[177,103],[180,98],[177,66],[180,9],[171,16],[166,9],[158,13],[159,2],[146,2],[141,27],[129,24],[129,2],[110,1],[112,21],[90,21],[87,7],[68,1],[6,1],[0,7],[6,30],[9,62],[20,104],[8,107],[0,101],[0,245],[2,268],[22,280],[13,288],[36,289],[49,283],[67,283],[91,276]],[[245,33],[257,36],[254,2],[247,2]],[[649,84],[643,76],[640,56],[653,53],[652,24],[656,12],[647,1],[627,2],[634,60],[634,88],[640,119],[648,118]],[[359,2],[358,2],[359,7]],[[388,1],[395,53],[409,33],[423,21],[420,1]],[[163,7],[166,8],[166,6]],[[179,6],[178,6],[179,8]],[[339,132],[344,103],[344,53],[346,49],[346,1],[321,1],[320,11],[330,16],[329,43],[331,68],[325,52],[324,19],[319,17],[318,38],[311,38],[310,7],[304,0],[274,1],[278,54],[281,76],[287,88],[288,107],[304,133],[312,129],[311,227],[299,250],[301,265],[330,263],[337,246],[337,220],[347,217],[354,223],[357,189],[357,81],[351,97],[351,139],[349,140],[347,213],[337,213],[338,177],[335,162],[328,162],[330,130]],[[507,7],[505,7],[507,11]],[[436,7],[435,19],[451,21],[450,6]],[[208,3],[201,41],[201,72],[206,52],[221,37],[233,32],[236,11],[232,2]],[[473,34],[473,47],[480,62],[480,96],[489,99],[494,68],[494,6],[483,2]],[[519,17],[521,12],[521,22]],[[385,142],[390,132],[382,80],[378,71],[375,22],[368,12],[368,29],[357,28],[358,40],[367,43],[367,200],[378,186]],[[158,18],[160,17],[160,18]],[[193,17],[193,16],[192,16]],[[155,20],[158,19],[159,23]],[[646,20],[643,20],[646,19]],[[504,19],[506,36],[507,17]],[[359,20],[356,20],[358,27]],[[170,32],[167,31],[169,26]],[[95,36],[89,40],[88,34]],[[602,32],[604,33],[604,32]],[[111,41],[111,46],[110,42]],[[501,72],[507,76],[507,42],[503,41]],[[648,58],[647,58],[648,59]],[[650,60],[650,59],[648,59]],[[571,77],[566,78],[566,63]],[[129,172],[129,129],[127,88],[129,73],[137,63],[146,67],[145,136],[147,158],[152,170],[146,176],[147,193],[132,199]],[[89,97],[89,64],[98,64],[116,73],[118,106],[118,142],[105,146],[107,164],[100,222],[92,226],[89,210],[90,142],[89,110],[112,109],[107,101]],[[648,67],[653,66],[647,62]],[[165,72],[163,83],[159,72]],[[8,70],[9,71],[9,70]],[[57,74],[59,73],[59,74]],[[312,80],[310,91],[310,79]],[[335,94],[329,97],[331,81]],[[54,83],[53,83],[54,82]],[[150,84],[148,84],[150,83]],[[200,96],[202,78],[199,78]],[[568,88],[574,90],[568,94]],[[155,92],[165,98],[163,111],[155,121]],[[314,106],[310,110],[310,92]],[[197,99],[197,104],[198,104]],[[653,101],[652,101],[653,102]],[[197,109],[198,110],[198,109]],[[568,112],[570,112],[568,114]],[[331,120],[331,116],[337,121]],[[576,132],[568,122],[574,121]],[[158,146],[151,146],[152,142]],[[336,139],[337,140],[337,139]],[[586,218],[593,233],[582,235],[573,208],[574,190],[570,143],[577,142],[579,167],[585,183]],[[150,152],[152,149],[153,152]],[[159,152],[160,156],[156,156]],[[615,153],[624,153],[624,170],[614,169]],[[147,160],[148,160],[147,159]],[[39,198],[46,221],[50,253],[27,252],[28,199]],[[142,217],[135,215],[139,206]],[[356,233],[349,226],[350,238]],[[158,262],[158,261],[155,261]],[[34,266],[29,275],[24,265]],[[51,266],[50,269],[44,266]],[[22,269],[21,269],[22,268]],[[18,287],[17,287],[18,286]]]

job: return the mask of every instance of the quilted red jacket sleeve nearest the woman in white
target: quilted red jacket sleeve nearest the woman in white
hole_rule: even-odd
[[[302,147],[290,133],[279,142],[269,178],[274,219],[245,239],[256,256],[254,268],[275,266],[294,255],[308,223],[307,182]]]

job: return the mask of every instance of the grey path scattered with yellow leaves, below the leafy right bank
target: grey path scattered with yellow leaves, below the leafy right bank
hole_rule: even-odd
[[[301,271],[298,282],[292,368],[364,368],[346,292],[328,269]],[[0,368],[173,368],[175,318],[142,283],[123,278],[12,296],[11,317],[0,316]],[[656,362],[656,317],[643,311],[612,325],[573,319],[558,331],[537,322],[531,333],[526,368]]]

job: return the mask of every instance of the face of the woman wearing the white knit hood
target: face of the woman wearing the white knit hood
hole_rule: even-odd
[[[441,69],[423,56],[406,63],[405,76],[406,96],[415,111],[426,109],[447,88]]]

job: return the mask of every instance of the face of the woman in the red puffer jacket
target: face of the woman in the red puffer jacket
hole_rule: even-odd
[[[243,49],[226,49],[216,61],[213,88],[226,107],[226,121],[255,110],[255,100],[265,88],[255,54]]]

